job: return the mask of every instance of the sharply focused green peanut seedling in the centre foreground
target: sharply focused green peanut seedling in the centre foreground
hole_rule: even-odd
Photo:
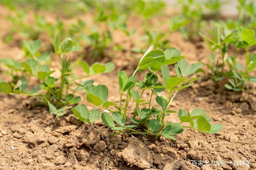
[[[206,116],[205,111],[202,109],[194,109],[191,112],[181,109],[178,112],[180,123],[165,120],[167,115],[176,113],[176,111],[170,110],[169,106],[178,91],[192,86],[192,82],[199,79],[189,79],[188,76],[195,73],[202,64],[189,65],[185,59],[180,57],[180,51],[176,48],[168,48],[165,51],[159,49],[152,51],[152,48],[151,46],[144,53],[131,77],[128,77],[125,71],[118,72],[119,103],[108,101],[108,88],[106,85],[94,86],[89,84],[85,88],[87,101],[107,110],[102,113],[101,119],[106,126],[117,131],[112,135],[127,131],[129,134],[140,134],[148,138],[154,136],[154,140],[157,140],[160,135],[176,140],[174,135],[183,132],[184,128],[192,128],[207,133],[220,131],[222,125],[210,124],[210,118]],[[175,64],[176,76],[173,77],[170,76],[168,67],[171,64]],[[144,75],[144,79],[136,80],[136,73],[146,70],[149,73]],[[162,73],[162,83],[158,82],[158,75],[156,75],[158,71]],[[149,99],[142,98],[142,94],[145,91],[150,92]],[[161,93],[163,91],[168,93],[168,97]],[[122,105],[124,93],[127,93],[127,95],[125,105]],[[160,108],[152,106],[153,98],[155,98]],[[132,99],[136,106],[132,110],[128,110]],[[113,107],[114,109],[111,109]],[[88,117],[88,112],[84,114],[82,111],[76,111],[79,119]],[[131,112],[133,116],[130,118],[127,113]]]

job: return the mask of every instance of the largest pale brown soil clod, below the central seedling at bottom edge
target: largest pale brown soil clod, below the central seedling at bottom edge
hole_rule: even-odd
[[[140,142],[137,138],[132,138],[129,145],[122,151],[116,154],[122,158],[130,166],[138,166],[145,169],[153,166],[153,155],[148,150],[147,146]]]

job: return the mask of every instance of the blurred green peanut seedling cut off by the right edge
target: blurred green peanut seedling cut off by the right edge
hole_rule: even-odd
[[[256,69],[256,54],[251,56],[248,51],[249,47],[256,44],[255,31],[238,27],[231,33],[224,33],[222,26],[219,25],[210,31],[211,38],[201,34],[212,53],[206,64],[211,70],[209,76],[217,82],[228,79],[229,83],[225,84],[227,89],[241,91],[244,90],[246,82],[256,82],[255,77],[250,75]],[[228,54],[232,50],[230,45],[234,46],[234,55]],[[239,49],[246,51],[244,55],[245,66],[237,60]],[[218,57],[219,53],[221,59]]]

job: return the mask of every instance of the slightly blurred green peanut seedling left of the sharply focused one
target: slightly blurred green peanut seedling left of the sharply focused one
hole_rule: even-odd
[[[72,63],[70,59],[67,59],[66,53],[78,51],[81,47],[74,46],[71,38],[66,38],[60,42],[60,38],[56,36],[55,39],[52,40],[55,54],[51,58],[50,53],[41,54],[39,52],[41,47],[40,40],[23,42],[22,44],[26,56],[30,57],[29,59],[25,62],[12,60],[4,61],[7,67],[23,73],[20,77],[21,79],[18,80],[16,84],[14,81],[8,83],[0,80],[0,91],[7,94],[22,94],[38,97],[40,101],[49,107],[50,112],[55,114],[56,117],[64,115],[66,113],[64,112],[65,110],[70,109],[72,105],[81,100],[80,96],[76,96],[77,91],[84,90],[87,85],[94,82],[93,80],[86,80],[82,83],[78,83],[77,80],[101,73],[108,73],[114,69],[114,63],[112,62],[106,63],[105,65],[94,63],[89,67],[85,61],[80,61],[79,65],[84,70],[85,75],[76,77],[74,73],[72,73],[74,69],[72,69]],[[51,65],[56,57],[60,57],[61,66],[60,68],[56,66],[58,69],[52,70]],[[60,77],[52,76],[52,73],[55,71],[60,71]],[[29,82],[27,79],[31,79],[32,77],[36,78],[40,82],[40,85],[28,91],[26,90],[26,84]],[[74,110],[80,110],[81,107],[86,108],[85,106],[78,105],[74,107]],[[99,113],[98,110],[93,109],[88,115],[88,122],[92,123],[98,118],[97,115],[99,115]]]

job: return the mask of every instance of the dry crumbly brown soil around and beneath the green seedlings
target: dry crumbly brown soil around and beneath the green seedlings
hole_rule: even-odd
[[[4,19],[0,21],[4,23]],[[120,42],[120,37],[117,39]],[[168,36],[168,39],[173,47],[182,51],[189,63],[205,60],[208,52],[204,45],[187,42],[179,33]],[[21,58],[19,44],[0,43],[0,50],[0,58]],[[104,59],[112,60],[116,69],[107,75],[93,77],[95,84],[107,85],[110,101],[118,102],[117,70],[131,73],[135,67],[137,60],[130,54],[127,50]],[[76,73],[82,74],[79,69]],[[1,75],[0,79],[8,80],[8,77]],[[81,93],[81,96],[80,103],[92,109],[85,95]],[[145,93],[143,97],[148,98],[149,94]],[[229,92],[218,88],[210,79],[201,79],[192,88],[180,91],[171,109],[202,108],[214,123],[224,126],[223,130],[205,134],[186,129],[176,136],[178,141],[161,137],[152,143],[144,137],[126,133],[109,138],[112,132],[101,121],[94,126],[82,124],[72,114],[54,119],[46,108],[33,107],[33,99],[29,97],[0,93],[0,99],[0,169],[256,168],[256,93]],[[178,117],[171,115],[166,120],[177,122]],[[195,160],[209,161],[210,165],[194,166]],[[218,160],[226,161],[226,165],[214,165]],[[235,161],[250,161],[252,164],[235,166]]]

